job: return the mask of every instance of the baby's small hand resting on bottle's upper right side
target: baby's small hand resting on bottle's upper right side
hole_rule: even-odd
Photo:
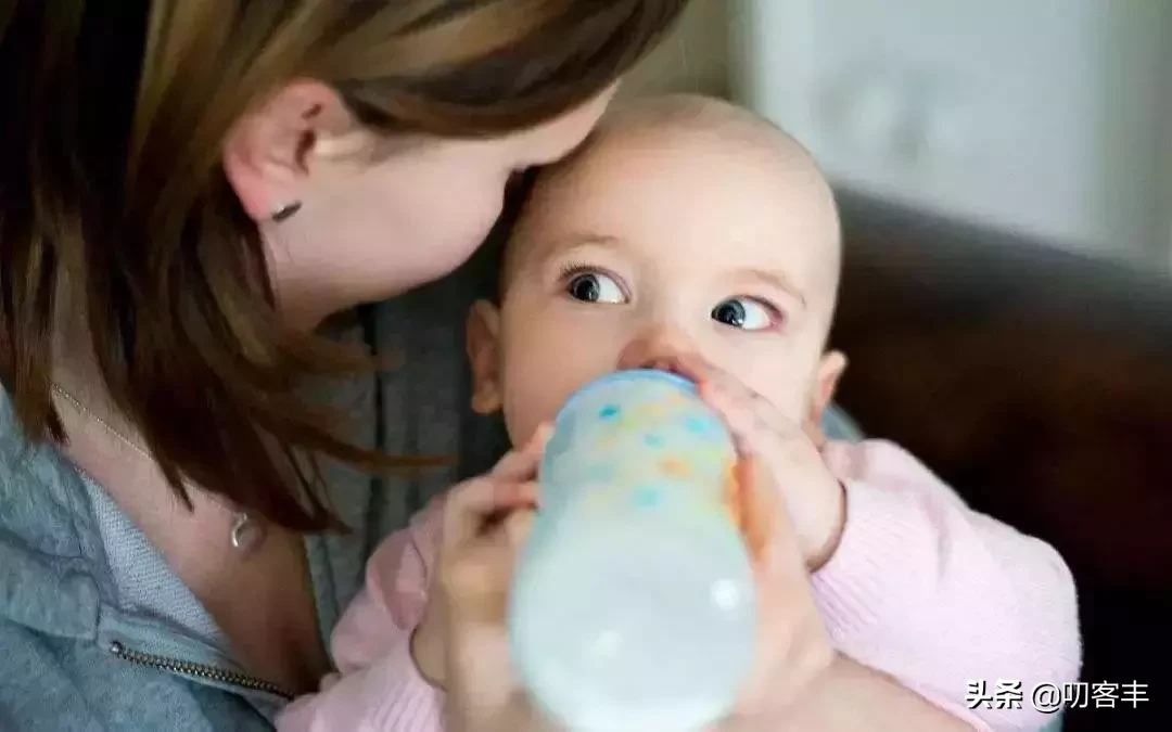
[[[795,424],[738,378],[697,357],[682,364],[700,382],[700,395],[728,424],[742,456],[754,454],[785,501],[798,548],[810,572],[838,547],[846,521],[841,484],[819,452],[818,425]]]

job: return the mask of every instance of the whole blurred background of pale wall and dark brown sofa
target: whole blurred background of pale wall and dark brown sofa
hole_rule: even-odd
[[[1172,711],[1172,0],[694,0],[626,95],[803,142],[846,247],[840,401],[1076,575],[1083,680]]]

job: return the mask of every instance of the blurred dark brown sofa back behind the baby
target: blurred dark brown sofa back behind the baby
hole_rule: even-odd
[[[841,404],[1067,559],[1082,680],[1150,684],[1067,730],[1172,728],[1172,282],[839,199]]]

